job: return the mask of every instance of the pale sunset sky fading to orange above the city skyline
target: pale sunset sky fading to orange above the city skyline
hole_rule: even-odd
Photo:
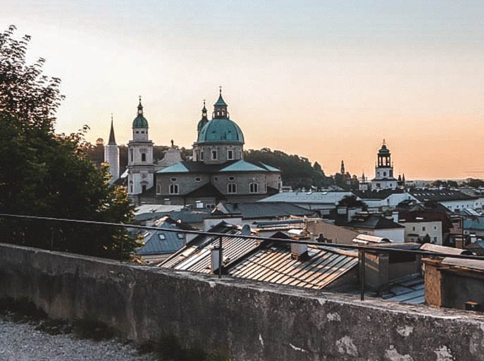
[[[222,86],[245,149],[374,176],[484,178],[483,1],[2,0],[61,78],[56,131],[131,137],[142,96],[156,145],[191,147]]]

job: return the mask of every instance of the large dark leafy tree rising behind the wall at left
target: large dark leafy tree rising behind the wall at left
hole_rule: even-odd
[[[0,33],[0,212],[128,223],[125,190],[109,185],[106,167],[86,155],[87,126],[55,134],[60,80],[42,74],[44,59],[26,64],[30,37],[17,40],[14,32]],[[0,231],[11,243],[101,257],[128,257],[137,246],[116,226],[3,218]]]

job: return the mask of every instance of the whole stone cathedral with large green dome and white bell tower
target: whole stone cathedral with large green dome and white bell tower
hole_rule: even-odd
[[[279,169],[244,161],[244,135],[230,118],[221,92],[211,119],[204,104],[189,158],[182,160],[172,141],[163,159],[153,159],[140,99],[128,143],[126,185],[133,202],[211,208],[218,202],[254,202],[278,192],[282,185]]]

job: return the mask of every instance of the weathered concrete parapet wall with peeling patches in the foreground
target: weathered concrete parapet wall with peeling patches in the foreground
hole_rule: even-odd
[[[0,298],[89,315],[135,341],[172,332],[235,360],[483,360],[484,315],[0,244]]]

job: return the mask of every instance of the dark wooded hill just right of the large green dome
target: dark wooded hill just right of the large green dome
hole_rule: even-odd
[[[307,189],[311,185],[321,188],[333,184],[333,179],[325,176],[317,161],[311,165],[309,159],[299,157],[297,154],[290,155],[268,148],[250,149],[244,152],[244,159],[251,162],[261,161],[280,169],[284,185],[290,185],[293,189],[302,187]]]

